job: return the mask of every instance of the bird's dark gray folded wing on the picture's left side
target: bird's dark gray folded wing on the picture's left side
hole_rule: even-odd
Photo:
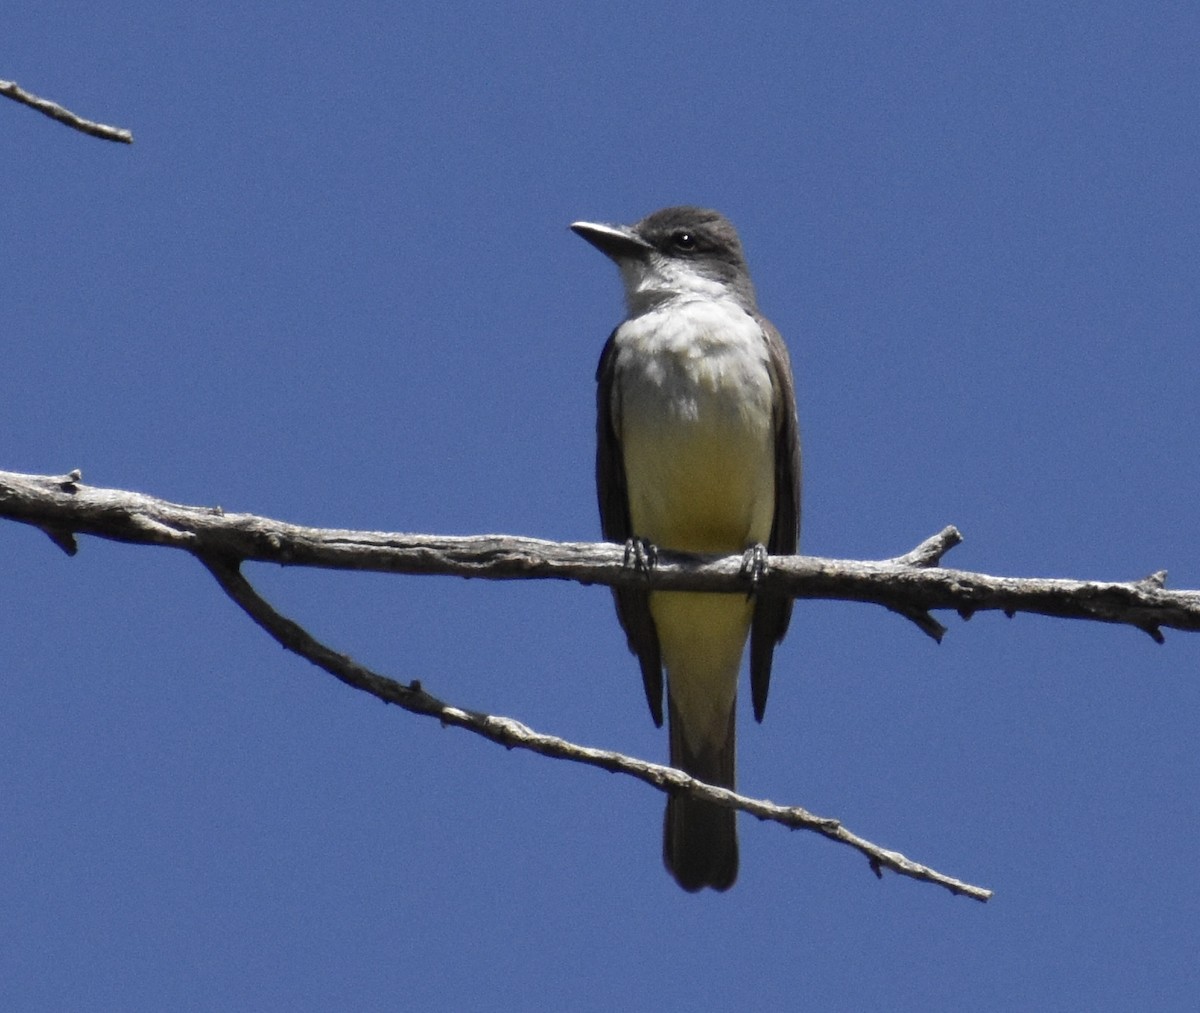
[[[607,541],[624,544],[635,537],[629,520],[625,488],[625,461],[612,418],[613,374],[617,368],[617,331],[608,336],[596,367],[596,497],[600,502],[600,529]],[[654,724],[662,726],[662,654],[659,633],[650,616],[650,595],[641,588],[614,587],[617,618],[625,630],[629,649],[642,666],[646,702]],[[786,619],[785,619],[786,625]],[[782,636],[782,634],[780,634]],[[767,664],[770,664],[768,655]]]

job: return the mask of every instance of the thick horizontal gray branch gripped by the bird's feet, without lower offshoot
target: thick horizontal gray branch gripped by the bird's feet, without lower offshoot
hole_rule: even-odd
[[[310,528],[253,514],[227,514],[220,507],[186,507],[137,492],[96,488],[83,485],[74,472],[59,478],[0,472],[0,517],[40,527],[60,545],[70,545],[68,535],[76,533],[286,567],[750,591],[740,556],[661,550],[647,576],[624,565],[622,546],[607,543]],[[998,577],[932,565],[959,538],[954,528],[946,528],[904,556],[874,562],[772,557],[758,587],[793,598],[882,605],[935,639],[944,627],[930,616],[934,609],[953,609],[964,618],[998,610],[1118,623],[1156,640],[1163,628],[1200,630],[1200,592],[1168,591],[1162,571],[1135,581],[1078,581]]]

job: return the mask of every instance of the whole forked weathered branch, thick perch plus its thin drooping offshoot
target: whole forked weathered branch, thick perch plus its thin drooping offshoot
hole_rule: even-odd
[[[685,791],[762,820],[820,833],[866,856],[877,875],[883,869],[892,869],[977,900],[991,897],[988,889],[880,847],[851,833],[838,820],[706,785],[671,767],[577,745],[535,732],[509,718],[454,707],[431,696],[419,682],[406,685],[372,672],[322,645],[276,612],[240,573],[240,564],[250,559],[281,565],[496,580],[554,577],[610,586],[648,581],[656,588],[746,593],[749,579],[740,556],[694,557],[660,551],[653,571],[643,574],[626,565],[623,546],[604,543],[310,528],[252,514],[227,514],[220,507],[188,507],[124,490],[96,488],[84,485],[79,472],[61,476],[0,472],[0,517],[41,528],[68,553],[76,552],[76,535],[80,533],[184,549],[200,559],[226,593],[281,645],[348,685],[385,702],[436,717],[444,724],[467,729],[508,748],[529,749],[624,773],[662,791]],[[954,609],[964,617],[984,609],[998,609],[1008,615],[1026,611],[1123,623],[1150,633],[1158,641],[1162,641],[1162,627],[1200,629],[1200,592],[1165,591],[1165,573],[1133,582],[1098,582],[994,577],[938,567],[942,556],[960,540],[959,533],[948,527],[892,559],[775,557],[758,591],[796,598],[875,603],[912,619],[938,640],[946,630],[930,615],[932,609]]]

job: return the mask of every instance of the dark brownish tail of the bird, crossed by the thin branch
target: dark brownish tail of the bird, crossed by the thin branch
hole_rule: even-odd
[[[725,742],[707,743],[698,750],[684,741],[674,703],[671,714],[671,766],[719,787],[734,785],[734,713]],[[689,893],[703,887],[728,889],[738,877],[738,832],[732,809],[685,795],[667,798],[662,823],[662,861],[667,871]]]

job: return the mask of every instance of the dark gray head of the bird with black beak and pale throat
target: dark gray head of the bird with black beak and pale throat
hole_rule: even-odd
[[[620,268],[631,312],[688,295],[756,308],[742,240],[716,211],[664,208],[635,226],[575,222],[571,229]]]

